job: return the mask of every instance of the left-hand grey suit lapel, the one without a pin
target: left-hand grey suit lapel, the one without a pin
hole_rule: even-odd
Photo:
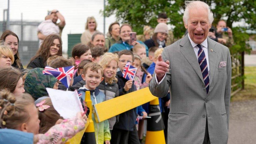
[[[189,64],[193,67],[195,70],[196,74],[199,76],[201,81],[204,83],[202,72],[198,63],[198,59],[195,55],[195,51],[189,41],[188,34],[180,41],[179,44],[180,47],[180,52],[182,55],[186,58],[186,60],[189,62]]]

